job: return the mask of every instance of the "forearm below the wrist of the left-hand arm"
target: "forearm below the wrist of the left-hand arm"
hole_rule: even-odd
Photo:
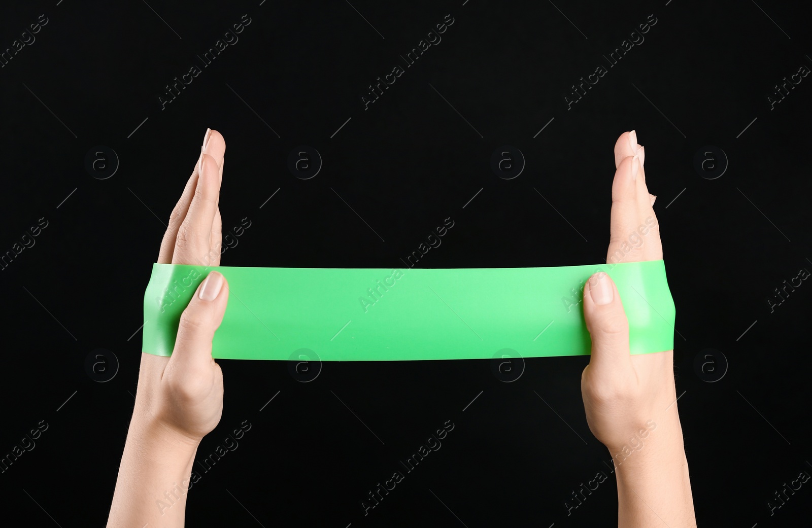
[[[182,528],[196,453],[197,445],[133,414],[107,528]]]

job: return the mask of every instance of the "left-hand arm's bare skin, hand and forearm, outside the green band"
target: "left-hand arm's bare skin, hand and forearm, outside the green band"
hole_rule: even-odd
[[[207,131],[206,137],[201,160],[169,219],[160,264],[220,264],[218,206],[226,142],[217,131]],[[184,311],[171,357],[141,354],[135,408],[107,520],[110,528],[184,526],[185,488],[197,446],[222,415],[222,371],[211,357],[211,340],[226,311],[228,283],[223,277],[213,301],[201,299],[213,275],[220,274],[209,274]]]

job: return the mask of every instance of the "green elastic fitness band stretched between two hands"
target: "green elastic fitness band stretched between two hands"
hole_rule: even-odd
[[[663,260],[550,268],[248,268],[153,264],[143,351],[169,356],[180,315],[211,270],[229,298],[217,359],[322,361],[590,354],[581,298],[598,271],[615,281],[632,354],[674,347]],[[512,356],[513,357],[513,356]]]

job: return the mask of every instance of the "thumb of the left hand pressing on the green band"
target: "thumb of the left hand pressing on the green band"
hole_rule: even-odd
[[[211,272],[197,287],[180,315],[175,350],[170,361],[176,366],[207,367],[212,362],[211,341],[220,327],[228,303],[228,282],[222,273]]]

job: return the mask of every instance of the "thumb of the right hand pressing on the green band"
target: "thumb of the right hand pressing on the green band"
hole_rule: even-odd
[[[594,273],[584,288],[584,319],[592,337],[592,376],[624,379],[632,366],[628,319],[615,282],[604,272]]]

